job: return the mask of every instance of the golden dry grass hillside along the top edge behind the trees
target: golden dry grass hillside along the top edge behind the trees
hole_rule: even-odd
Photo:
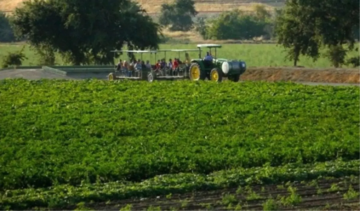
[[[0,11],[10,12],[21,5],[24,0],[0,0]],[[173,0],[136,0],[148,13],[158,13],[161,4],[171,3]],[[254,3],[264,3],[270,6],[280,6],[284,0],[195,0],[198,12],[221,12],[233,9],[251,10]]]

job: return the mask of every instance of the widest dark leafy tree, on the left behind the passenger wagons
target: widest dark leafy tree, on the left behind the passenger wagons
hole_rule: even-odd
[[[17,36],[67,63],[112,64],[113,49],[157,49],[159,26],[130,0],[28,0],[13,20]]]

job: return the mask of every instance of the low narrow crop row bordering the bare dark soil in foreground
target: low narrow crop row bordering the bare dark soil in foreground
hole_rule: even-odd
[[[214,172],[209,175],[180,173],[161,175],[141,183],[56,185],[51,188],[21,189],[0,193],[0,209],[64,207],[79,202],[105,202],[174,193],[300,182],[321,178],[344,178],[360,175],[360,160],[342,160],[316,164],[288,164]]]

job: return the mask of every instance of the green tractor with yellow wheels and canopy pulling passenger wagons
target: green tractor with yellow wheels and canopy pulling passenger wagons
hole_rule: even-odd
[[[190,80],[198,81],[206,78],[211,81],[221,82],[223,78],[228,78],[231,81],[238,82],[240,75],[246,70],[246,63],[244,61],[228,60],[217,58],[216,49],[221,48],[217,44],[199,44],[199,59],[191,60],[189,67]],[[207,47],[209,49],[210,57],[201,58],[201,48]],[[211,49],[214,49],[215,56],[212,58]]]

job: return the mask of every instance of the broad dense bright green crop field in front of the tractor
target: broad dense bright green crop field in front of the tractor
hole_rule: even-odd
[[[0,189],[360,159],[360,88],[0,81]]]

